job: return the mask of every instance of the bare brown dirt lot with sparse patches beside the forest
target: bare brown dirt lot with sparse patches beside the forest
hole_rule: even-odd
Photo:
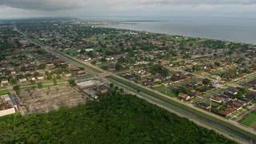
[[[70,86],[50,87],[45,89],[21,90],[19,111],[24,114],[58,110],[60,106],[77,106],[85,103],[86,96]]]

